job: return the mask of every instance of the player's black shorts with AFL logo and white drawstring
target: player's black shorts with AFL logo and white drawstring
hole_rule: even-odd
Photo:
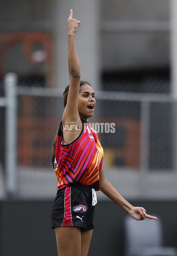
[[[92,191],[88,185],[74,183],[59,190],[51,209],[51,228],[81,227],[81,231],[94,229]]]

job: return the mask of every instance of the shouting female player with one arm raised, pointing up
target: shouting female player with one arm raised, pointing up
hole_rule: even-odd
[[[95,190],[101,190],[135,220],[157,219],[142,207],[128,203],[105,179],[103,149],[98,134],[89,126],[95,107],[90,84],[80,81],[80,65],[75,34],[80,21],[68,18],[68,67],[70,84],[64,95],[65,110],[52,152],[52,165],[58,179],[52,210],[59,256],[86,256],[92,236]]]

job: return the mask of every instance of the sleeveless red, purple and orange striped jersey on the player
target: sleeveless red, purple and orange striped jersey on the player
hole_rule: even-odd
[[[71,144],[61,145],[62,122],[58,130],[54,170],[57,189],[79,182],[100,190],[99,172],[103,162],[103,148],[98,133],[81,119],[82,131]]]

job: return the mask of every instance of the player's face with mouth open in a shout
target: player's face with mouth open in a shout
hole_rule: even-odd
[[[88,121],[89,117],[94,114],[95,107],[95,93],[91,86],[84,84],[80,87],[79,99],[78,99],[78,112],[79,116]]]

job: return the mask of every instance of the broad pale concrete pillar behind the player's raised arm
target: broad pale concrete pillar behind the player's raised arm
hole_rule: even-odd
[[[56,43],[56,80],[59,88],[69,83],[68,74],[68,17],[73,9],[73,18],[81,24],[76,32],[76,48],[81,66],[81,79],[91,82],[93,90],[100,85],[100,45],[99,45],[99,0],[56,1],[55,43]]]

